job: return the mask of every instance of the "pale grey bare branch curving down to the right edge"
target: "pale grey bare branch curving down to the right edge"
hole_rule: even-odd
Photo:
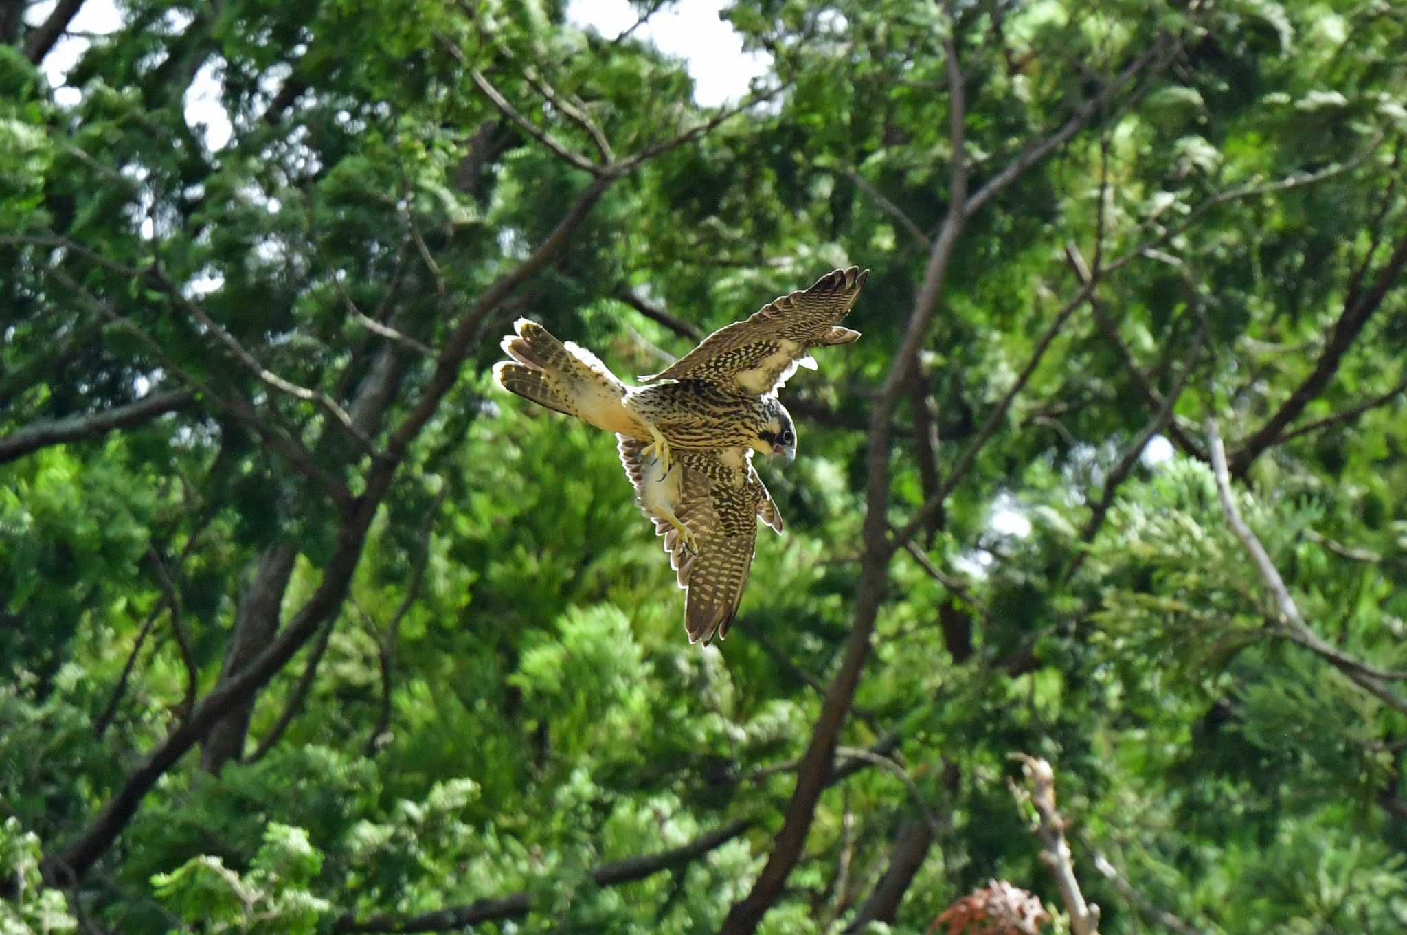
[[[1217,420],[1213,416],[1207,416],[1207,450],[1211,453],[1211,472],[1216,477],[1217,498],[1221,501],[1221,510],[1225,513],[1227,526],[1241,540],[1241,546],[1245,547],[1247,554],[1251,557],[1251,564],[1255,565],[1261,582],[1271,592],[1275,606],[1279,610],[1278,623],[1283,630],[1276,636],[1313,651],[1342,672],[1354,685],[1358,685],[1384,704],[1407,713],[1407,699],[1400,697],[1384,685],[1389,681],[1407,678],[1407,673],[1376,669],[1349,657],[1325,643],[1310,628],[1304,617],[1300,616],[1300,609],[1294,603],[1294,598],[1290,596],[1290,589],[1285,586],[1285,579],[1280,578],[1275,562],[1271,561],[1269,553],[1265,551],[1265,546],[1261,544],[1261,540],[1251,531],[1251,527],[1241,519],[1235,495],[1231,492],[1231,475],[1227,470],[1225,447],[1221,444],[1221,433],[1217,430]]]

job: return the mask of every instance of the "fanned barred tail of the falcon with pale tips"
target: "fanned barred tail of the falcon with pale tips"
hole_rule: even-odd
[[[557,340],[526,318],[514,322],[514,332],[502,343],[512,361],[494,367],[499,387],[606,432],[640,433],[635,416],[620,405],[626,385],[595,354]]]

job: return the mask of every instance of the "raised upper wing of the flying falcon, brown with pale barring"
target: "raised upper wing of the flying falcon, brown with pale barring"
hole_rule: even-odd
[[[750,318],[720,328],[668,370],[640,381],[704,380],[732,392],[774,392],[798,366],[815,370],[816,361],[808,353],[812,347],[860,337],[860,332],[840,328],[839,322],[868,277],[870,270],[858,266],[826,273],[809,290],[782,295]]]

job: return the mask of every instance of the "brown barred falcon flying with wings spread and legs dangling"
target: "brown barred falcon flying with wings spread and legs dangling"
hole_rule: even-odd
[[[753,451],[796,457],[796,426],[777,389],[810,349],[847,344],[841,328],[870,270],[851,266],[782,295],[705,337],[668,368],[628,387],[590,350],[518,319],[494,366],[499,387],[575,416],[618,439],[636,502],[664,537],[685,598],[689,643],[727,636],[747,585],[757,517],[782,517],[753,467]]]

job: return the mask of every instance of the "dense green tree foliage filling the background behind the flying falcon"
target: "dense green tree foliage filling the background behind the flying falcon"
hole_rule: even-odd
[[[957,195],[947,42],[968,195],[1024,172],[967,217],[881,453],[895,529],[951,485],[886,571],[840,735],[840,763],[888,761],[841,768],[760,931],[844,929],[923,813],[937,838],[865,931],[929,931],[993,877],[1054,908],[1019,751],[1055,763],[1107,935],[1159,929],[1096,855],[1211,935],[1401,929],[1407,682],[1363,681],[1407,671],[1393,4],[739,0],[775,93],[613,181],[505,295],[590,183],[553,148],[599,160],[599,131],[623,160],[718,115],[647,24],[602,37],[537,0],[120,13],[62,93],[32,22],[0,42],[0,929],[319,932],[522,893],[480,928],[718,931],[867,583],[875,394]],[[201,87],[218,146],[187,115]],[[1072,247],[1095,305],[1061,318]],[[497,337],[525,315],[654,373],[691,346],[667,322],[706,333],[850,263],[864,337],[782,391],[801,458],[758,460],[787,533],[760,530],[727,643],[691,647],[613,440],[494,388]],[[1209,415],[1338,664],[1228,527]],[[283,547],[277,626],[249,637]],[[45,887],[41,848],[186,735],[241,640],[342,585],[228,706],[232,749],[200,731],[84,879]],[[708,853],[592,877],[739,818]]]

